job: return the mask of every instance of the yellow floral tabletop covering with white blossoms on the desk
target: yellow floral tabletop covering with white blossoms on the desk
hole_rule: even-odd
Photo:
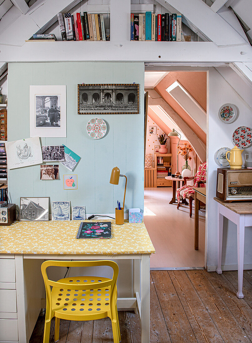
[[[144,223],[125,221],[124,225],[116,225],[115,220],[104,221],[111,221],[112,238],[76,239],[81,221],[18,221],[1,226],[0,253],[117,255],[155,252]]]

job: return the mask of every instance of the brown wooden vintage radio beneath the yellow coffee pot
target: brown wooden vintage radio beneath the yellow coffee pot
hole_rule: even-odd
[[[217,169],[216,197],[224,201],[252,200],[252,169]]]

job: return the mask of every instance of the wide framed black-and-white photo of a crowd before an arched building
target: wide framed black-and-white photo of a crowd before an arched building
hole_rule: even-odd
[[[78,114],[138,114],[139,84],[78,84]]]

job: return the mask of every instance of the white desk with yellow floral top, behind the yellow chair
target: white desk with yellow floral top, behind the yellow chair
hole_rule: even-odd
[[[45,297],[45,290],[40,266],[45,259],[110,259],[116,260],[119,265],[117,307],[134,309],[135,312],[138,310],[141,319],[141,341],[148,343],[150,254],[155,250],[144,223],[131,224],[125,221],[124,225],[116,225],[115,220],[111,220],[112,238],[76,239],[80,223],[81,221],[16,222],[11,226],[1,227],[1,268],[4,268],[4,265],[7,268],[14,268],[13,271],[12,267],[9,268],[10,275],[7,273],[4,282],[6,287],[16,289],[16,342],[29,342],[38,314],[43,307],[41,299]],[[14,283],[9,286],[13,282],[12,272],[15,273],[15,287]],[[65,270],[61,272],[65,274]],[[97,267],[96,270],[92,270],[93,275],[100,276],[107,276],[109,272],[108,270],[106,275],[101,275]],[[71,270],[68,276],[74,275],[70,273]],[[83,270],[81,273],[87,275]],[[54,276],[55,280],[63,277],[55,273]],[[14,317],[12,314],[10,320]]]

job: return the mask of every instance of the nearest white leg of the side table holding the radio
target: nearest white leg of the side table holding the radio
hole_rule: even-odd
[[[243,258],[244,258],[244,230],[245,215],[240,214],[237,222],[237,253],[238,253],[238,292],[239,299],[243,298],[242,281],[243,281]]]

